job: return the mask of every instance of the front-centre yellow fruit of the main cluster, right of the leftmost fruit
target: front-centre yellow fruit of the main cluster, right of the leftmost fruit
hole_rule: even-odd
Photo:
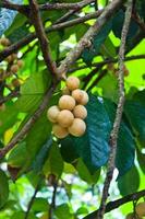
[[[60,124],[60,126],[68,128],[69,126],[72,125],[74,116],[70,111],[63,110],[59,113],[57,120]]]

